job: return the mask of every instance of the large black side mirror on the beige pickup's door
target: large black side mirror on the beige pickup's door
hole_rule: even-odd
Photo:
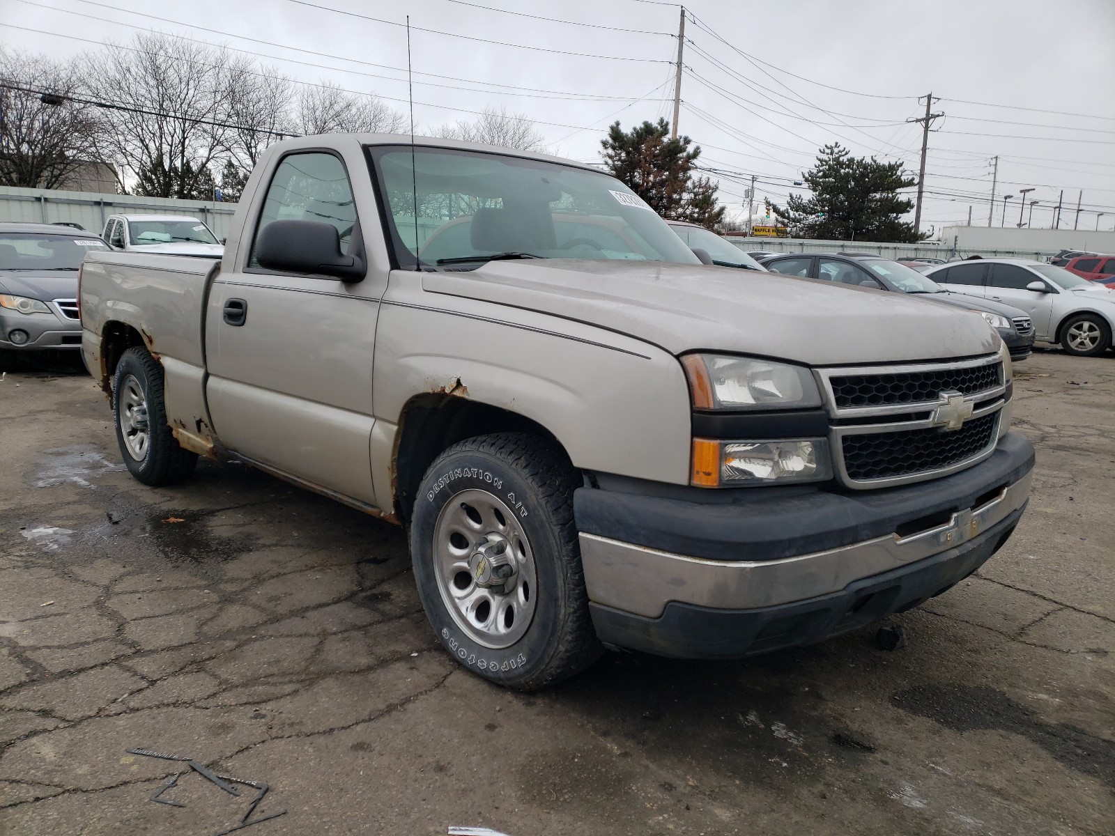
[[[268,270],[329,275],[359,282],[363,260],[341,253],[341,237],[332,224],[318,221],[273,221],[255,240],[255,257]]]

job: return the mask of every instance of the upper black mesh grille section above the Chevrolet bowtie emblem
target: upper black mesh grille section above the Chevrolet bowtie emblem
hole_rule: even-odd
[[[895,371],[881,375],[845,375],[830,379],[837,409],[881,407],[935,401],[942,391],[976,395],[993,389],[1002,380],[1002,363],[961,369]]]

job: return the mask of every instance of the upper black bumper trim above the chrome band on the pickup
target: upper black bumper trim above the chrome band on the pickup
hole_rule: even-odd
[[[752,488],[719,504],[582,487],[573,506],[583,534],[705,560],[773,561],[862,543],[922,517],[970,508],[1032,467],[1032,445],[1008,432],[985,461],[901,487],[792,495]]]

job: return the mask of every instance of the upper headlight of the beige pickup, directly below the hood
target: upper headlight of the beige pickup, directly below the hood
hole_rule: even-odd
[[[821,392],[808,369],[726,354],[681,358],[695,409],[796,409],[820,407]]]

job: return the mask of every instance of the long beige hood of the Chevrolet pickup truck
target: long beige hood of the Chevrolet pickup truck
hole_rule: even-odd
[[[999,348],[999,336],[976,313],[902,293],[704,264],[495,261],[424,273],[423,289],[586,322],[673,354],[705,349],[842,366]]]

